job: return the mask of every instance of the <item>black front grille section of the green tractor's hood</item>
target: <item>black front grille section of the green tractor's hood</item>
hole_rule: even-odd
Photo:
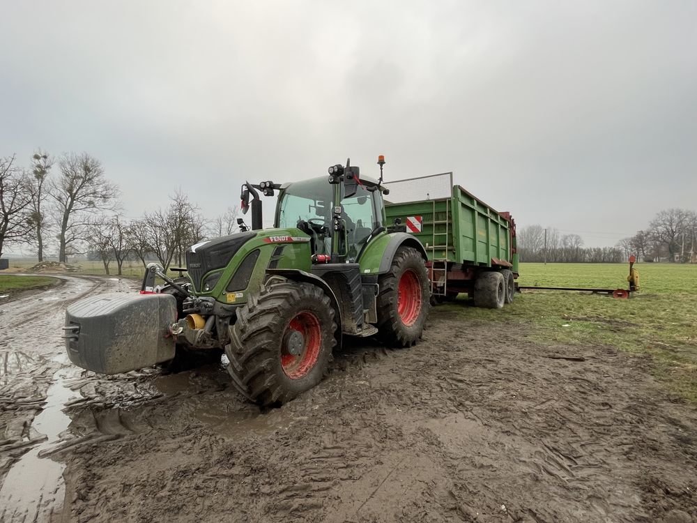
[[[238,232],[192,245],[186,253],[186,268],[196,291],[201,290],[201,278],[210,271],[224,268],[242,245],[256,236],[257,231]]]

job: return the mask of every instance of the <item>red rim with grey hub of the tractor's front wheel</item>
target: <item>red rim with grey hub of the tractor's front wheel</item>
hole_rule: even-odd
[[[319,319],[312,312],[296,314],[281,338],[281,367],[286,376],[290,379],[305,377],[317,363],[321,345]]]

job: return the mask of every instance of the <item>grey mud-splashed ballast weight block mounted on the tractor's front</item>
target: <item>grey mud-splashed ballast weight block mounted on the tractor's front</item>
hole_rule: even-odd
[[[175,321],[170,294],[100,294],[68,307],[63,338],[72,363],[116,374],[174,358]]]

